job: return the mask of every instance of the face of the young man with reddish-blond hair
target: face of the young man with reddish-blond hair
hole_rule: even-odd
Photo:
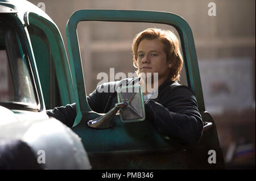
[[[164,44],[159,39],[143,39],[138,45],[138,74],[158,73],[158,80],[167,79],[171,64],[167,61]],[[151,76],[152,76],[151,75]],[[139,76],[141,77],[141,76]]]

